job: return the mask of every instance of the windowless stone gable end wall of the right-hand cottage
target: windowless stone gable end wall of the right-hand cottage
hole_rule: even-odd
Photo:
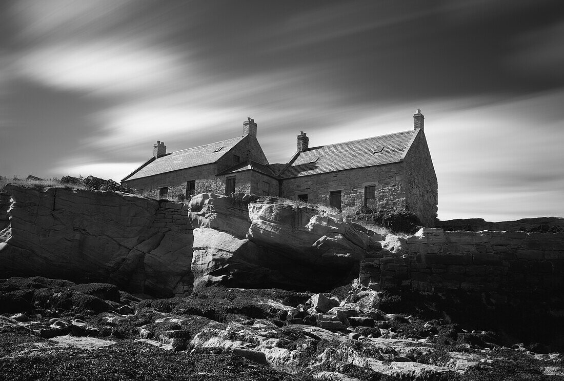
[[[404,159],[406,202],[423,226],[434,227],[437,218],[437,175],[423,130],[419,130]]]

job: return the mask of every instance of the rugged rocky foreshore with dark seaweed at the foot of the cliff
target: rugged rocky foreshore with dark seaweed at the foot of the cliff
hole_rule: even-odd
[[[0,301],[7,380],[564,376],[562,353],[388,310],[380,293],[359,285],[333,294],[209,287],[139,299],[112,284],[9,278],[0,281]]]

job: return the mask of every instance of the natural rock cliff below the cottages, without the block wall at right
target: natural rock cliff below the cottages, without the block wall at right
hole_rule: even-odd
[[[113,191],[7,186],[0,276],[110,282],[138,294],[193,285],[324,291],[358,277],[369,241],[350,221],[272,198],[203,194],[189,205]]]

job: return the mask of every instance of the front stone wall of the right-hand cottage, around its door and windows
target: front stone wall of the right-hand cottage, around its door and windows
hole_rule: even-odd
[[[282,182],[281,196],[296,200],[307,194],[309,203],[329,206],[329,192],[340,190],[343,214],[354,214],[364,204],[364,187],[376,185],[378,208],[405,207],[404,173],[404,164],[394,163],[289,178]]]

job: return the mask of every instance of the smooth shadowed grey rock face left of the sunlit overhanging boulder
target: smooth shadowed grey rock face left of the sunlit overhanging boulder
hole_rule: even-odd
[[[112,191],[7,190],[14,203],[11,237],[0,243],[1,277],[110,282],[161,296],[191,291],[191,225],[182,205]]]

